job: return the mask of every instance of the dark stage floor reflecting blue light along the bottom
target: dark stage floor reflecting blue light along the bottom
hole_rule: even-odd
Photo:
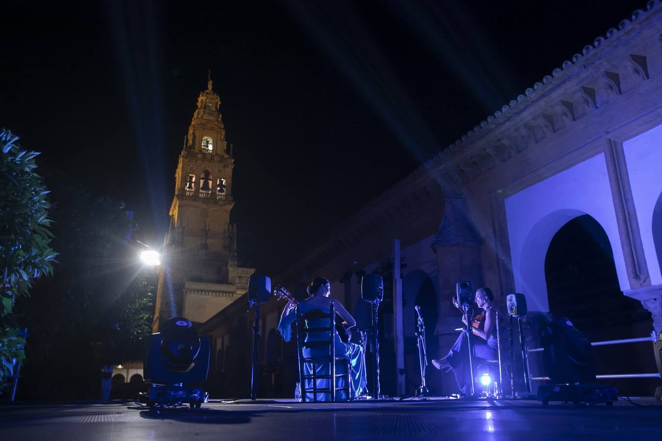
[[[0,406],[3,440],[620,440],[662,433],[662,403],[612,407],[453,399],[296,403],[211,400],[202,409],[138,409],[132,403]],[[477,438],[480,437],[480,438]]]

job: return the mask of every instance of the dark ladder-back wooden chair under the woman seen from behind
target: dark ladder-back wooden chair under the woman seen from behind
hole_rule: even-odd
[[[349,362],[342,356],[336,357],[336,324],[334,321],[336,311],[334,309],[334,302],[330,304],[329,312],[325,313],[321,309],[311,309],[305,315],[301,315],[301,311],[297,306],[297,349],[299,351],[299,384],[301,387],[301,399],[307,401],[307,393],[312,393],[312,402],[325,401],[318,399],[318,395],[328,393],[330,401],[338,400],[337,391],[346,391],[347,399],[350,399],[350,367]],[[306,341],[310,334],[315,335],[315,341]],[[323,335],[320,339],[320,335]],[[320,350],[316,348],[326,348]],[[305,357],[303,352],[305,349],[312,350],[313,352],[320,352],[322,355]],[[311,373],[305,373],[305,365],[310,364]],[[328,374],[318,374],[318,366],[328,365]],[[336,364],[343,364],[346,372],[338,374],[336,372]],[[338,387],[336,380],[346,377],[346,385]],[[327,380],[328,387],[318,387],[318,380]],[[307,387],[306,382],[312,383],[312,387]],[[322,395],[323,397],[324,395]]]

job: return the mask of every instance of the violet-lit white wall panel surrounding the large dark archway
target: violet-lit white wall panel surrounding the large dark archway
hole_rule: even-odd
[[[530,310],[549,310],[544,266],[553,235],[584,214],[604,229],[620,290],[630,289],[604,153],[509,196],[504,203],[515,289],[526,295]]]

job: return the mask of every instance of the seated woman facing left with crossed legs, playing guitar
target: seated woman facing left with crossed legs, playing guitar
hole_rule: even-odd
[[[496,311],[492,307],[492,302],[495,296],[492,294],[490,288],[480,288],[476,290],[475,302],[479,308],[485,311],[485,317],[480,321],[478,327],[471,326],[467,323],[467,315],[463,315],[462,321],[471,329],[473,335],[479,338],[471,339],[473,346],[473,368],[476,368],[477,361],[483,360],[496,360],[497,344],[496,344]],[[448,355],[440,360],[432,360],[432,364],[437,369],[453,370],[455,380],[457,380],[457,387],[462,395],[471,393],[471,372],[469,372],[469,355],[467,354],[467,334],[461,333]],[[475,372],[474,372],[475,374]]]

